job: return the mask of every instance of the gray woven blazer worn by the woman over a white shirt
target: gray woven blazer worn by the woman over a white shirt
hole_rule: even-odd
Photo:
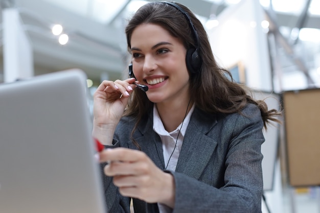
[[[130,140],[132,117],[123,117],[113,147],[137,149]],[[153,131],[152,110],[133,137],[157,165],[164,169],[162,142]],[[211,115],[195,108],[182,144],[175,179],[173,213],[261,212],[263,193],[260,110],[248,104],[242,114]],[[101,164],[101,168],[105,164]],[[130,212],[130,198],[119,194],[112,179],[103,174],[109,212]],[[158,212],[156,204],[133,199],[134,212]]]

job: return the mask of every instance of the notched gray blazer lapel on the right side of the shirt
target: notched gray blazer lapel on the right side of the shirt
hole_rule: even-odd
[[[181,147],[176,172],[199,179],[217,146],[217,141],[207,136],[216,124],[215,116],[195,108]]]

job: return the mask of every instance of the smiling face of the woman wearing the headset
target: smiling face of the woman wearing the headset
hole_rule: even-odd
[[[161,26],[144,23],[132,32],[131,52],[134,76],[149,87],[151,102],[189,100],[187,51],[178,38]]]

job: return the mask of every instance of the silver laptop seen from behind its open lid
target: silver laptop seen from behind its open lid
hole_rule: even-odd
[[[86,76],[0,84],[0,212],[103,213]]]

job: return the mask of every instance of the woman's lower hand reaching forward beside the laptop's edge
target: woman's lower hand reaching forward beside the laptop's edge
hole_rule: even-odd
[[[104,173],[113,176],[113,183],[123,196],[174,207],[173,176],[156,167],[144,152],[126,148],[107,149],[100,153],[100,162],[107,161]]]

